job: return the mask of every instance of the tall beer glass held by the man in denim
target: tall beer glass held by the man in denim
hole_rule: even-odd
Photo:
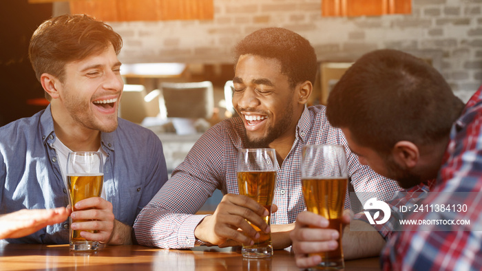
[[[70,205],[76,211],[75,204],[89,197],[100,197],[104,180],[102,153],[94,151],[73,151],[67,156],[67,185],[69,186]],[[83,219],[73,220],[82,222]],[[94,232],[90,230],[90,232]],[[92,251],[98,248],[98,242],[81,237],[81,230],[70,229],[70,250]]]

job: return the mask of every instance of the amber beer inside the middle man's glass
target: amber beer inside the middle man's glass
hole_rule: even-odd
[[[269,225],[271,219],[271,204],[273,204],[273,191],[276,182],[275,171],[243,171],[238,172],[238,187],[240,195],[246,195],[254,199],[256,202],[270,210],[267,217],[263,217],[266,224]],[[251,224],[250,221],[248,221]],[[253,228],[260,234],[260,238],[254,240],[253,246],[245,246],[245,248],[258,248],[271,246],[271,232],[265,233],[257,226],[251,224]]]

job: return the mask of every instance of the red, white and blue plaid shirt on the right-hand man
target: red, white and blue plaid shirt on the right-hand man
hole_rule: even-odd
[[[470,224],[410,225],[386,244],[384,270],[482,270],[482,88],[452,127],[434,193],[423,204],[466,204],[468,211],[415,213],[410,219],[469,219]],[[467,193],[467,197],[458,197]],[[454,228],[460,227],[460,228]],[[477,228],[478,227],[478,228]]]

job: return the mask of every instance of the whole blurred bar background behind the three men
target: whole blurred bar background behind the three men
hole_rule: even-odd
[[[259,28],[288,28],[315,47],[310,105],[376,49],[423,58],[464,102],[482,83],[482,0],[0,0],[0,126],[48,105],[28,43],[42,21],[67,13],[91,14],[123,37],[120,116],[159,136],[169,171],[206,129],[235,116],[232,49]]]

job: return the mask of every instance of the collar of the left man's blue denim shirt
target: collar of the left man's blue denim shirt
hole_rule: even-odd
[[[40,134],[44,144],[52,144],[54,138],[56,137],[54,130],[54,118],[52,118],[52,110],[50,107],[51,105],[49,104],[40,117]],[[111,133],[101,132],[101,146],[107,153],[114,151],[114,133],[115,131]]]

